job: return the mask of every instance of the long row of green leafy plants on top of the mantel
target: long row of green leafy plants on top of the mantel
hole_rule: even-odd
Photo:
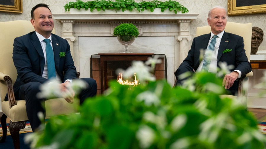
[[[105,10],[115,10],[124,12],[125,10],[128,10],[132,12],[133,10],[137,10],[138,12],[143,12],[145,10],[154,12],[154,10],[160,9],[161,12],[174,12],[177,14],[177,12],[181,13],[187,13],[188,9],[181,5],[177,1],[140,1],[135,2],[134,0],[93,0],[93,1],[87,1],[83,2],[81,0],[76,0],[75,2],[69,2],[64,6],[66,11],[70,11],[70,9],[90,9],[90,12],[93,12],[94,9],[97,11],[105,11]],[[88,11],[89,12],[89,11]]]

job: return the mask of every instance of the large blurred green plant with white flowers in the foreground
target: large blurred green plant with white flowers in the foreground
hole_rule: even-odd
[[[188,81],[192,90],[173,89],[165,80],[129,90],[113,81],[111,92],[86,100],[80,114],[49,119],[43,132],[31,134],[32,148],[265,148],[254,116],[237,100],[219,96],[225,89],[218,76],[197,73]]]

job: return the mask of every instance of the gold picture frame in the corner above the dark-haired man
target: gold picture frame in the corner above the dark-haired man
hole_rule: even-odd
[[[0,0],[0,12],[22,13],[22,0]]]

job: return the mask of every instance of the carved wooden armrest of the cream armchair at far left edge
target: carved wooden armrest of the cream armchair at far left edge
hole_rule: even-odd
[[[7,96],[9,101],[9,108],[13,107],[14,105],[17,105],[13,91],[13,84],[10,76],[4,73],[0,73],[0,80],[6,81],[7,83]]]

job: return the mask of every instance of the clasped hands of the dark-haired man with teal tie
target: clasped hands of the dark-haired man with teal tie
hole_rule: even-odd
[[[70,82],[66,81],[65,83],[61,83],[60,88],[61,88],[61,91],[65,94],[64,99],[68,103],[72,104],[74,102],[75,92],[71,88]]]

